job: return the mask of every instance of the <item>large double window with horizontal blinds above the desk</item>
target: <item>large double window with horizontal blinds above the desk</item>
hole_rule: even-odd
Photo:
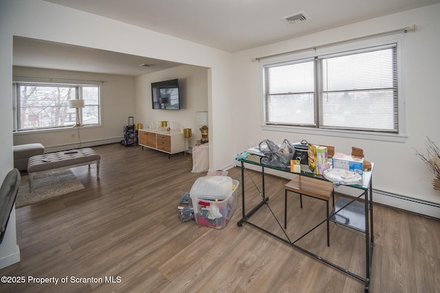
[[[265,124],[399,133],[397,43],[263,65]]]

